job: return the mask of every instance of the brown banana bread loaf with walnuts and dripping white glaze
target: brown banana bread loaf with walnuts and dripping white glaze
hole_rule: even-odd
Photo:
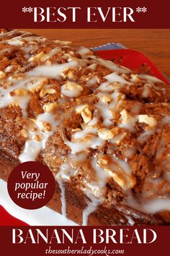
[[[71,42],[0,34],[0,177],[40,161],[83,225],[169,225],[170,90]]]

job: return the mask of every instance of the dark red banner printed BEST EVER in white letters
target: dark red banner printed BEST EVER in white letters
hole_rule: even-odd
[[[169,28],[164,1],[2,1],[0,26],[8,28]]]

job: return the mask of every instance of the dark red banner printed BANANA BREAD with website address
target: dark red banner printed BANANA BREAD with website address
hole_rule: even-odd
[[[1,255],[169,255],[169,226],[1,226]]]

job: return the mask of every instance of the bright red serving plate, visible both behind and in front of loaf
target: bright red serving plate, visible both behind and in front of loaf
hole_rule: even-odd
[[[95,51],[95,54],[97,54],[97,56],[103,59],[112,60],[117,64],[128,67],[136,73],[150,74],[162,80],[163,82],[170,84],[166,77],[164,77],[164,75],[158,70],[156,65],[153,64],[153,62],[150,59],[148,59],[148,57],[146,57],[138,51],[130,49],[117,49]],[[11,216],[0,205],[0,226],[19,225],[24,226],[27,224]]]

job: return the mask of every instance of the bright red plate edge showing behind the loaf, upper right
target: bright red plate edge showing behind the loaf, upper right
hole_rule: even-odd
[[[170,85],[170,82],[159,71],[156,65],[153,64],[151,59],[148,59],[148,57],[140,53],[140,51],[131,49],[115,49],[94,52],[97,56],[103,59],[113,60],[115,63],[132,69],[136,73],[150,74],[151,76],[157,77]]]

